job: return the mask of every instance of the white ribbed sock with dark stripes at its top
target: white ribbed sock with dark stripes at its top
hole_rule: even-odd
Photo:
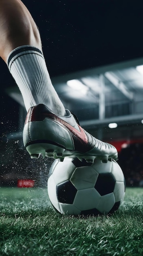
[[[65,115],[65,108],[52,85],[39,49],[30,45],[17,47],[9,54],[7,65],[20,88],[27,111],[43,103],[56,114]]]

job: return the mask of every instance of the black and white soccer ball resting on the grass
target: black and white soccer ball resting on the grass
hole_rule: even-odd
[[[124,174],[115,160],[82,162],[78,158],[56,159],[50,168],[48,195],[60,213],[98,216],[116,211],[124,200]]]

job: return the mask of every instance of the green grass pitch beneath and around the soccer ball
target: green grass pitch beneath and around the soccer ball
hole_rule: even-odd
[[[74,218],[47,189],[0,188],[0,256],[143,256],[143,189],[127,188],[112,216]]]

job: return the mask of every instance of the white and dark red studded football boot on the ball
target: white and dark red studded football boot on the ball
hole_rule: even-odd
[[[117,149],[85,131],[69,110],[66,109],[66,115],[61,116],[43,104],[28,110],[23,141],[31,158],[39,158],[42,154],[60,161],[64,157],[78,157],[87,162],[117,160]]]

